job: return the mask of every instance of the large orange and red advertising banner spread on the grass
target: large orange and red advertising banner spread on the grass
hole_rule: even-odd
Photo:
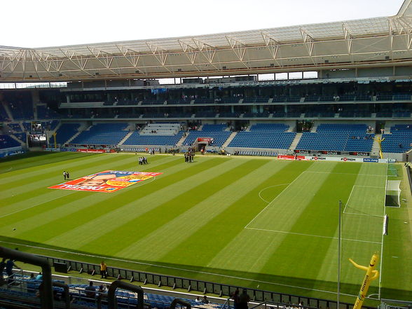
[[[111,193],[160,174],[163,173],[105,170],[96,174],[69,180],[62,184],[49,186],[48,188]]]

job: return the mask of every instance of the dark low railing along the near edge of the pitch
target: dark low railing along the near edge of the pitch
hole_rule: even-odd
[[[50,266],[54,263],[65,263],[67,270],[74,270],[80,273],[100,274],[100,267],[97,264],[85,263],[81,261],[72,261],[66,259],[57,259],[51,256],[41,256],[48,259]],[[352,303],[340,302],[337,308],[337,302],[328,299],[314,298],[307,296],[298,296],[294,294],[284,294],[274,291],[264,291],[260,289],[242,288],[229,284],[221,284],[215,282],[207,282],[202,280],[193,280],[184,277],[176,277],[171,275],[160,275],[156,273],[146,273],[139,270],[130,270],[125,268],[108,267],[107,275],[117,279],[130,280],[130,282],[142,282],[143,284],[156,284],[158,287],[172,287],[172,289],[186,289],[187,291],[200,291],[203,294],[217,294],[221,296],[231,296],[236,289],[246,289],[247,294],[252,301],[272,303],[290,303],[298,304],[305,303],[308,307],[313,308],[329,308],[329,309],[350,309]],[[376,307],[363,306],[366,309],[374,309]]]

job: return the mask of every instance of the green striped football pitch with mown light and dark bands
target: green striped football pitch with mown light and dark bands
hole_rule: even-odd
[[[138,165],[137,157],[33,153],[0,161],[0,245],[336,299],[342,200],[343,296],[357,295],[365,275],[348,258],[367,265],[378,252],[381,275],[369,294],[411,300],[411,212],[406,202],[385,207],[387,165],[159,155]],[[48,188],[64,181],[64,170],[71,179],[104,170],[163,174],[114,193]]]

